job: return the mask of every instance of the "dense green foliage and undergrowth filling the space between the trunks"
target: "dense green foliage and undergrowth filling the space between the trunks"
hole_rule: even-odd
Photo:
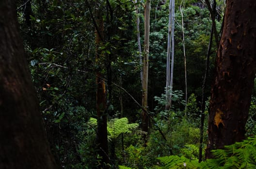
[[[25,0],[26,1],[26,0]],[[200,0],[176,0],[175,67],[172,107],[165,110],[168,3],[151,3],[148,74],[149,131],[141,129],[140,53],[136,17],[144,41],[143,2],[136,14],[127,0],[30,0],[18,8],[21,35],[40,101],[40,110],[55,160],[63,169],[97,169],[96,72],[106,83],[108,147],[111,169],[249,169],[256,168],[256,95],[254,89],[246,136],[248,139],[215,150],[205,159],[208,105],[216,44],[210,53],[206,83],[203,162],[198,163],[202,83],[212,21]],[[17,6],[24,3],[19,0]],[[31,11],[26,11],[31,7]],[[103,5],[102,5],[103,4]],[[108,5],[112,8],[105,9]],[[182,11],[183,16],[181,15]],[[96,8],[106,41],[96,47]],[[224,0],[217,0],[220,32]],[[28,16],[28,17],[27,17]],[[185,100],[182,20],[187,55],[188,99]],[[104,55],[97,59],[96,54]],[[136,103],[137,102],[137,103]],[[106,112],[104,112],[106,113]],[[144,145],[144,135],[147,142]]]

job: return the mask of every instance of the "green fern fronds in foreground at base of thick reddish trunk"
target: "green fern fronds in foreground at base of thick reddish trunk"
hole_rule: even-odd
[[[159,157],[164,169],[256,169],[256,136],[247,140],[213,150],[214,159],[198,160],[171,155]]]

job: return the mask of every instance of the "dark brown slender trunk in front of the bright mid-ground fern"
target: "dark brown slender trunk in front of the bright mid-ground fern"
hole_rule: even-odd
[[[101,78],[101,60],[104,55],[100,53],[98,47],[102,45],[104,40],[104,26],[102,13],[98,10],[96,16],[96,64],[99,69],[96,72],[96,104],[97,104],[97,145],[99,149],[99,155],[102,157],[101,165],[99,168],[108,168],[106,164],[109,160],[109,148],[108,148],[108,131],[107,131],[107,111],[106,111],[106,87],[105,81]]]

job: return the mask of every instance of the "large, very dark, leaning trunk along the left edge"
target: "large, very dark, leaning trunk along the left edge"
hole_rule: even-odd
[[[15,9],[0,1],[0,169],[56,169]]]

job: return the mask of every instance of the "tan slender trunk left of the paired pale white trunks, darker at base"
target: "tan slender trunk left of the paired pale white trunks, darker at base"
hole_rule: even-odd
[[[148,55],[149,55],[149,19],[150,19],[150,0],[146,0],[144,9],[144,62],[143,62],[143,85],[142,85],[142,131],[148,132],[148,115],[147,112],[147,82],[148,82]],[[144,143],[147,142],[147,134],[144,133]]]

